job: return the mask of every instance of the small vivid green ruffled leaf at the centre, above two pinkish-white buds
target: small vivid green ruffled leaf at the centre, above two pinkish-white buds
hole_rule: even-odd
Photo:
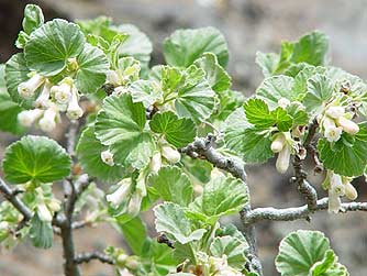
[[[191,143],[197,134],[192,120],[178,119],[171,111],[154,114],[149,125],[152,131],[164,134],[167,142],[176,147],[184,147]]]

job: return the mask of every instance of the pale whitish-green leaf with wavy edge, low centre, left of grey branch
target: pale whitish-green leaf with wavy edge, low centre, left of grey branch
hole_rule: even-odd
[[[165,232],[181,244],[198,241],[207,232],[204,229],[192,231],[190,221],[178,205],[165,202],[153,210],[156,217],[155,227],[157,232]]]

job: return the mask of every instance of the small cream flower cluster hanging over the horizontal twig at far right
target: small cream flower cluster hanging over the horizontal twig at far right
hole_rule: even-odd
[[[329,212],[343,211],[341,197],[355,200],[358,197],[356,188],[351,184],[352,178],[327,170],[323,187],[329,190]]]

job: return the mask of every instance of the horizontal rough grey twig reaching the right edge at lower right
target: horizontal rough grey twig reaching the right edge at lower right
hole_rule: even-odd
[[[327,198],[322,198],[316,201],[314,210],[310,210],[309,207],[301,206],[296,208],[256,208],[247,212],[245,221],[248,224],[253,224],[263,220],[271,221],[293,221],[299,219],[308,219],[314,211],[321,211],[327,209]],[[345,212],[347,211],[367,211],[367,202],[348,202],[342,203],[342,208]]]

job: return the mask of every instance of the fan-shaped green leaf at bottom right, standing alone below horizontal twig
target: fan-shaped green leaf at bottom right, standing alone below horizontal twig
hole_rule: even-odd
[[[281,276],[310,276],[310,268],[323,260],[329,249],[329,240],[321,232],[292,232],[280,243],[276,258],[277,271]]]

